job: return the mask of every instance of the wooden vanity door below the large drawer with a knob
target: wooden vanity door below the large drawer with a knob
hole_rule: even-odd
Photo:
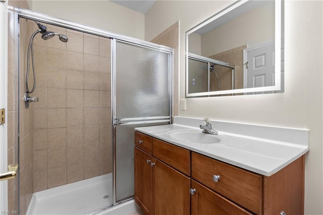
[[[191,215],[253,214],[194,180],[191,188],[195,189],[191,195]]]

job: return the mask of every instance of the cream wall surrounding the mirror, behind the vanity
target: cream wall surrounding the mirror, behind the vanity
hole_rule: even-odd
[[[180,20],[180,99],[185,98],[185,31],[231,3],[157,1],[146,14],[146,40]],[[186,111],[179,111],[183,117],[310,129],[305,214],[323,214],[322,12],[322,1],[285,3],[284,93],[187,98]]]

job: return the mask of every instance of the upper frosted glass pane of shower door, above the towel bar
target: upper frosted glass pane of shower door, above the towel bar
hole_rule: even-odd
[[[117,42],[117,118],[170,116],[169,58],[169,53]]]

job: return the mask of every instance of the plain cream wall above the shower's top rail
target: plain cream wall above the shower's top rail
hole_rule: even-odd
[[[110,1],[39,1],[32,10],[110,32],[144,39],[145,16]]]

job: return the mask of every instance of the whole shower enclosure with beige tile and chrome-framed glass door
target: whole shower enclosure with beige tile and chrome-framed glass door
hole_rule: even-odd
[[[171,123],[173,49],[29,10],[10,8],[10,13],[19,56],[20,214],[27,212],[32,193],[61,186],[64,192],[76,190],[85,186],[83,182],[98,184],[89,189],[98,190],[98,196],[91,197],[98,200],[87,202],[80,213],[92,214],[131,199],[134,128]],[[32,63],[26,58],[28,41],[39,25],[66,35],[68,42],[34,35],[35,75],[30,73],[27,82],[33,86],[36,80],[29,96],[39,101],[27,107],[26,65]],[[73,198],[91,195],[81,192]],[[53,206],[59,211],[61,205]]]

